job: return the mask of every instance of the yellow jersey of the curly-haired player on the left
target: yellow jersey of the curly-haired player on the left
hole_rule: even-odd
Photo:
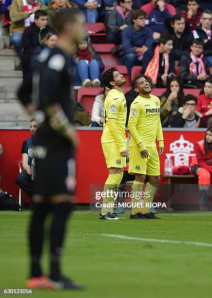
[[[104,102],[104,124],[101,136],[101,143],[116,142],[108,127],[108,119],[116,119],[116,127],[119,140],[127,142],[125,134],[125,124],[127,119],[127,102],[124,93],[116,89],[111,89]]]

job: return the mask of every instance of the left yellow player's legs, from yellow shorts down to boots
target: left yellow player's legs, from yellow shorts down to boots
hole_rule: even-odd
[[[104,185],[106,197],[103,198],[100,219],[119,219],[113,214],[113,204],[115,203],[115,193],[123,177],[123,168],[126,167],[126,158],[120,155],[115,142],[102,144],[106,165],[108,168],[108,178]],[[112,216],[111,216],[112,215]]]

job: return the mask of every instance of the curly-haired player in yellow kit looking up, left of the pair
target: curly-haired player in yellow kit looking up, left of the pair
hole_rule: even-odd
[[[104,125],[101,136],[102,149],[108,168],[109,176],[104,185],[106,197],[99,218],[103,220],[121,219],[113,213],[115,203],[114,191],[123,177],[126,167],[127,139],[125,123],[127,117],[127,103],[123,89],[126,79],[120,75],[115,67],[111,67],[102,75],[103,84],[110,89],[104,102]]]

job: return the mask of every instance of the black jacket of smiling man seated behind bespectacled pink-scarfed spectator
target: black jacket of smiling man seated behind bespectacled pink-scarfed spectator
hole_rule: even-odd
[[[189,24],[186,22],[185,30],[183,31],[181,37],[178,38],[174,32],[173,27],[171,26],[171,20],[169,19],[166,22],[166,29],[164,33],[170,34],[174,38],[173,56],[174,60],[179,60],[180,57],[183,55],[183,52],[190,49],[193,40],[193,35]]]

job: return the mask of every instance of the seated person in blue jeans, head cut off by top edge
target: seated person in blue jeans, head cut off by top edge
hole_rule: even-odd
[[[79,10],[86,16],[87,23],[96,23],[98,19],[98,8],[101,7],[101,0],[73,0]]]

